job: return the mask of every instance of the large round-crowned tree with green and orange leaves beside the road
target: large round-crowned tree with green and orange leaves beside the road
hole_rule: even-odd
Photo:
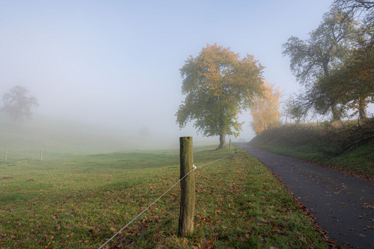
[[[240,58],[230,48],[217,44],[203,47],[180,69],[182,94],[186,95],[176,113],[177,124],[194,127],[204,136],[220,136],[218,148],[226,147],[225,136],[238,136],[243,123],[238,116],[248,110],[262,89],[263,67],[252,55]]]

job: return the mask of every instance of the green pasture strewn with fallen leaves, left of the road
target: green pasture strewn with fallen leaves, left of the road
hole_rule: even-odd
[[[195,165],[229,154],[214,148],[195,148]],[[1,248],[98,248],[178,180],[179,150],[2,162],[0,176]],[[177,185],[110,246],[326,248],[289,193],[244,150],[195,177],[192,236],[176,236]]]

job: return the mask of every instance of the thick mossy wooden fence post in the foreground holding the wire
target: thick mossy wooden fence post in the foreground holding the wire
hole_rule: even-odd
[[[179,137],[180,144],[180,178],[193,169],[192,136]],[[186,237],[194,231],[195,213],[195,175],[192,171],[180,182],[180,213],[178,236]]]

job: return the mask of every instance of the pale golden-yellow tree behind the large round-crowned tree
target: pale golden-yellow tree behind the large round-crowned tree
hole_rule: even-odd
[[[279,88],[274,90],[274,86],[266,81],[263,88],[262,95],[255,96],[250,108],[250,114],[253,118],[252,128],[256,135],[267,130],[269,125],[276,123],[279,119]]]

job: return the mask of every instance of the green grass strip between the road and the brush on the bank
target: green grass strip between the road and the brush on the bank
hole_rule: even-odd
[[[294,126],[294,129],[298,128]],[[293,139],[297,142],[285,141],[270,131],[268,134],[254,137],[249,143],[275,153],[358,172],[369,177],[374,176],[374,141],[369,141],[338,156],[328,156],[308,142],[308,134],[303,134],[302,130],[294,132],[297,135]],[[304,137],[301,138],[302,136]]]

